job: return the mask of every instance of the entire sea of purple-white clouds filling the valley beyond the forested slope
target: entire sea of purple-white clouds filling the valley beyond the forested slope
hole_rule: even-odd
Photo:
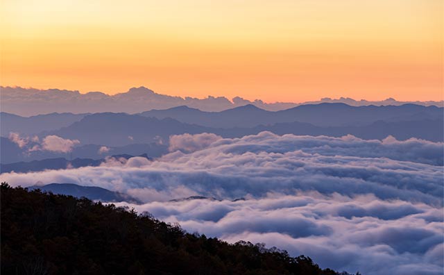
[[[171,153],[157,160],[108,158],[101,167],[8,173],[1,181],[126,192],[144,204],[119,206],[189,232],[305,254],[339,271],[442,274],[443,145],[351,135],[186,134],[172,136]],[[196,195],[210,199],[181,199]]]

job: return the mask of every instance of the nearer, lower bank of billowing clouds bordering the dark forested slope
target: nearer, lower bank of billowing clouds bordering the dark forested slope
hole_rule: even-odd
[[[189,232],[229,242],[264,242],[268,247],[287,249],[291,255],[305,254],[323,267],[370,275],[442,272],[443,224],[429,223],[424,217],[442,220],[443,213],[426,203],[383,201],[371,195],[350,198],[300,192],[271,193],[244,201],[117,205],[134,207],[139,213],[147,211],[167,222],[179,222]],[[341,213],[342,209],[352,208],[359,209],[359,215]],[[396,213],[367,214],[376,208]]]

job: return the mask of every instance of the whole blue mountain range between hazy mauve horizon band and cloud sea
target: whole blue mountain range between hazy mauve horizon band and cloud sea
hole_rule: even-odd
[[[0,113],[3,164],[49,158],[90,158],[126,153],[147,153],[155,158],[167,153],[169,137],[183,133],[215,133],[223,138],[239,138],[271,131],[280,135],[355,135],[363,139],[398,140],[420,138],[444,141],[444,108],[404,104],[402,106],[349,106],[321,103],[268,111],[251,104],[221,112],[206,112],[187,106],[151,110],[136,115],[127,113],[79,114],[51,113],[20,117]],[[11,132],[22,137],[37,135],[40,142],[48,135],[78,140],[69,153],[30,150],[8,139]],[[41,147],[41,144],[40,144]],[[104,147],[104,148],[102,148]],[[103,149],[103,150],[102,150]]]

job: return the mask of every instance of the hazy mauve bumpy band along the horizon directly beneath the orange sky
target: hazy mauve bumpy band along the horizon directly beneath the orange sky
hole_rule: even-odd
[[[396,101],[386,99],[384,101],[366,101],[350,98],[330,99],[305,103],[264,103],[261,100],[249,101],[241,97],[227,99],[226,97],[207,97],[196,99],[192,97],[172,97],[165,94],[157,94],[148,88],[131,88],[128,92],[108,95],[103,92],[88,92],[80,94],[70,90],[37,90],[33,88],[3,87],[0,86],[1,109],[3,112],[23,116],[32,116],[48,113],[104,113],[123,112],[141,113],[152,109],[167,109],[177,106],[188,106],[203,111],[219,112],[239,106],[252,104],[264,110],[285,110],[300,105],[317,103],[346,103],[350,106],[399,106],[405,103],[415,103],[422,106],[444,106],[444,101]]]

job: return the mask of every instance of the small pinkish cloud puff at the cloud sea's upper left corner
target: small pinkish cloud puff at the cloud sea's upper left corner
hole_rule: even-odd
[[[190,153],[209,147],[210,144],[221,139],[221,136],[214,133],[171,135],[169,138],[169,151],[181,150]]]

